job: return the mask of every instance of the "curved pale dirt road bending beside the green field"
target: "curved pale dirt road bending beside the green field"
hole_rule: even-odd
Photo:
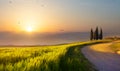
[[[111,44],[86,46],[82,48],[82,53],[99,71],[120,71],[120,55],[110,49]]]

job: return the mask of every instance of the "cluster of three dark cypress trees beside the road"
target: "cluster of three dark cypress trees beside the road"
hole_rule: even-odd
[[[98,27],[96,27],[96,30],[93,31],[93,29],[91,28],[91,32],[90,32],[90,40],[102,40],[103,39],[103,31],[102,28],[100,28],[100,32]]]

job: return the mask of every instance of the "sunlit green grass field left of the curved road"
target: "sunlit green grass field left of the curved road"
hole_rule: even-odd
[[[0,47],[0,71],[95,71],[82,55],[88,41],[55,46]]]

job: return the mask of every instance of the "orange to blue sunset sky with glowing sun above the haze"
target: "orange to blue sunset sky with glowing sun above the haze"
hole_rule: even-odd
[[[89,32],[96,26],[120,34],[120,0],[0,0],[2,36]]]

